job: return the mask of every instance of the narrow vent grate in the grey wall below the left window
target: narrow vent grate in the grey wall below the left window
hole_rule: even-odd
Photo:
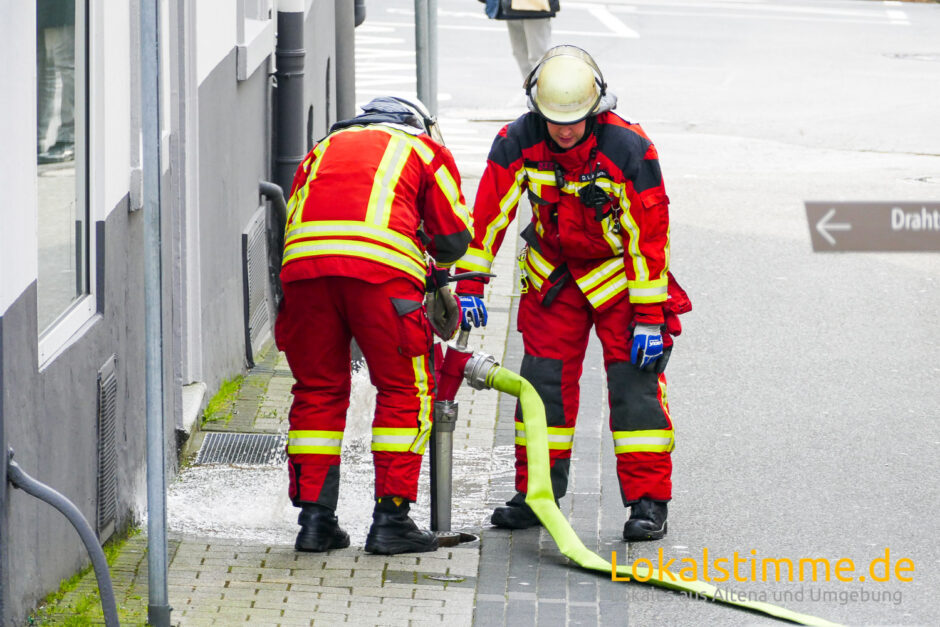
[[[115,356],[98,371],[98,539],[114,533],[117,517],[117,376]]]

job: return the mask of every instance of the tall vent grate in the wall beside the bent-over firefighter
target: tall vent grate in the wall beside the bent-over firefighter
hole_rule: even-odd
[[[271,337],[268,298],[267,213],[264,206],[251,217],[242,233],[242,269],[245,297],[245,351],[248,366]]]

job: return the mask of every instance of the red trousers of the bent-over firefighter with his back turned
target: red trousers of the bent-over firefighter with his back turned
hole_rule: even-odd
[[[287,445],[295,505],[336,509],[353,338],[378,390],[375,497],[417,499],[434,406],[432,337],[423,304],[421,290],[404,278],[369,283],[329,276],[284,284],[275,336],[297,381]]]

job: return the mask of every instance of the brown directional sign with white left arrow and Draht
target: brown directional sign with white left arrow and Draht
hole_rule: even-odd
[[[940,252],[938,202],[807,202],[815,252]]]

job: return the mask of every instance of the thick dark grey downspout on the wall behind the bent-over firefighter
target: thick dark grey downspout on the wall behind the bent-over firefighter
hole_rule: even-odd
[[[290,189],[307,153],[304,133],[304,3],[288,2],[277,12],[277,121],[274,125],[274,182]]]

